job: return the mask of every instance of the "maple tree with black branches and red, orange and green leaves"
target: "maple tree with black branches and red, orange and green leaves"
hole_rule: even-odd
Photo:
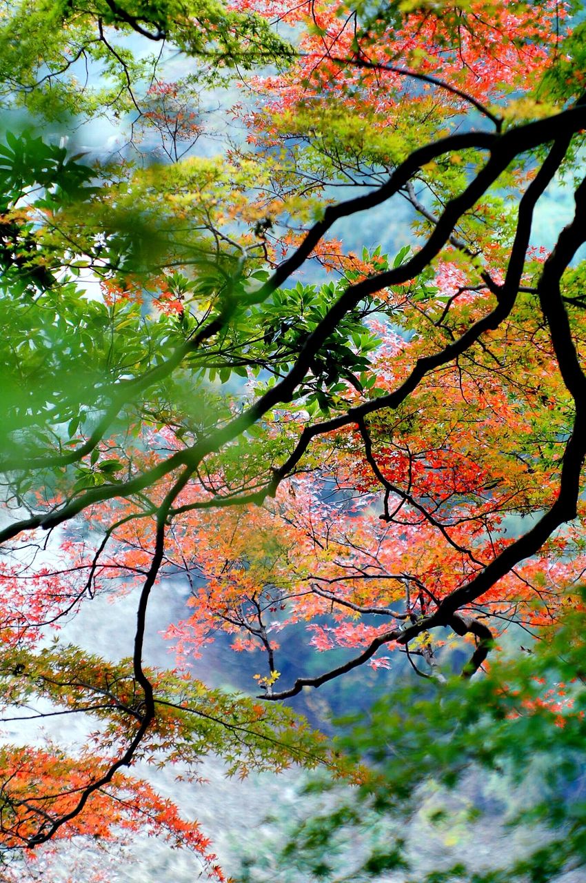
[[[387,668],[392,651],[442,679],[454,636],[474,644],[468,681],[511,623],[555,629],[582,608],[573,11],[107,0],[7,13],[3,46],[24,40],[4,54],[5,93],[59,125],[130,111],[136,148],[97,168],[30,132],[2,148],[6,702],[100,723],[76,757],[6,749],[7,850],[113,837],[146,812],[206,858],[197,828],[123,767],[155,752],[193,767],[213,750],[242,774],[300,762],[357,775],[274,700]],[[196,72],[166,83],[159,57],[132,54],[139,36]],[[70,79],[82,59],[105,69],[101,90]],[[181,159],[201,134],[199,88],[267,61],[276,72],[247,79],[258,101],[235,109],[246,143]],[[169,164],[140,164],[141,129]],[[575,215],[548,250],[532,230],[560,182]],[[360,189],[336,200],[340,186]],[[401,200],[410,244],[391,258],[386,241],[358,255],[333,238],[364,212],[382,227]],[[259,697],[146,667],[149,596],[171,573],[191,580],[193,608],[172,636],[189,653],[222,630],[258,648]],[[39,645],[95,593],[122,591],[138,595],[130,660]],[[282,686],[276,636],[302,623],[319,650],[353,654]]]

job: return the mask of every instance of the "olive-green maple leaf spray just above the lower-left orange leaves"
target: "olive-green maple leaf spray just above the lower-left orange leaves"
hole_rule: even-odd
[[[210,753],[222,758],[230,775],[252,770],[279,772],[291,764],[307,768],[326,764],[342,774],[325,737],[283,706],[259,705],[253,698],[210,690],[205,684],[172,671],[146,669],[156,689],[157,715],[139,756],[151,762],[178,763],[194,776]],[[142,694],[132,661],[114,664],[76,647],[55,643],[31,653],[5,653],[0,668],[4,698],[26,709],[35,699],[56,708],[84,712],[101,721],[95,744],[116,743],[120,733],[136,726]],[[103,728],[109,737],[104,738]],[[349,771],[349,767],[347,767]]]

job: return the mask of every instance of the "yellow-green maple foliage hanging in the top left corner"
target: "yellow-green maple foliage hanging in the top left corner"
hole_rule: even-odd
[[[137,109],[159,64],[157,43],[172,42],[214,68],[284,62],[289,43],[258,14],[229,10],[220,0],[20,0],[4,4],[0,23],[0,100],[15,99],[42,117],[120,117]],[[193,26],[197,22],[197,26]],[[152,52],[134,54],[139,34]],[[93,82],[80,86],[81,72]],[[99,85],[95,79],[101,77]],[[214,73],[210,74],[214,79]]]

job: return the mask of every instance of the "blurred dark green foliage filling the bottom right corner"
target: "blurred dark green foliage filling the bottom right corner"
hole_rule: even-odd
[[[556,635],[543,634],[530,651],[498,660],[472,682],[395,685],[364,716],[339,721],[348,729],[335,748],[367,759],[370,770],[353,793],[323,777],[306,783],[297,824],[273,822],[271,837],[289,842],[272,873],[366,881],[401,869],[406,883],[548,883],[583,870],[585,627],[584,612],[572,611]],[[494,836],[502,838],[500,854],[478,861],[473,844],[480,854]],[[420,841],[435,844],[423,864]],[[327,869],[320,868],[325,854]],[[263,862],[259,880],[268,879]]]

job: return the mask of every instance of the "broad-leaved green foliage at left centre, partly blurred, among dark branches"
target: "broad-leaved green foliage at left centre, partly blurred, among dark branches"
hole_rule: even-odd
[[[210,257],[200,231],[190,245],[190,275],[179,270],[161,274],[162,261],[177,258],[172,230],[177,205],[180,217],[184,205],[176,201],[169,215],[155,210],[154,192],[163,185],[153,170],[139,176],[132,188],[124,179],[115,180],[109,192],[96,185],[96,170],[79,157],[68,158],[64,148],[27,133],[9,134],[0,157],[0,328],[6,344],[0,449],[5,466],[15,468],[27,457],[58,454],[64,458],[56,464],[61,482],[67,459],[76,459],[74,451],[92,434],[96,419],[116,404],[118,421],[126,425],[154,421],[176,426],[181,438],[197,436],[201,418],[218,398],[214,383],[236,378],[232,391],[237,393],[250,373],[257,389],[270,388],[287,373],[348,283],[360,275],[350,270],[347,278],[319,287],[297,283],[255,304],[254,291],[267,280],[267,271],[255,269],[258,260],[251,260],[252,275],[244,278],[251,269],[237,268],[231,246]],[[167,177],[173,178],[172,172]],[[240,180],[232,170],[220,172],[208,161],[190,163],[187,171],[177,172],[176,185],[187,174],[186,192],[188,186],[197,188],[202,215],[207,200],[210,205],[218,202],[228,180],[230,186]],[[169,184],[165,181],[164,192]],[[379,268],[387,267],[385,256],[372,257]],[[371,256],[364,253],[363,258]],[[159,268],[154,279],[152,263]],[[79,284],[79,274],[89,268],[101,278],[105,299],[95,298],[91,289],[85,291]],[[116,282],[120,277],[123,283]],[[154,302],[163,312],[153,308]],[[167,302],[175,307],[165,310]],[[372,387],[375,378],[369,373],[368,357],[378,341],[364,319],[384,308],[367,298],[343,317],[296,390],[300,406],[327,411],[347,395],[349,386],[358,391]],[[214,312],[225,317],[222,333],[190,352],[190,339]],[[184,351],[188,357],[184,370],[172,376],[164,368],[169,351]],[[149,400],[139,404],[144,388],[140,378],[157,368],[162,369],[160,379],[155,373],[147,381]],[[192,379],[198,375],[194,396]],[[210,419],[220,416],[215,406],[213,414]],[[92,459],[75,466],[70,470],[72,492],[116,482],[123,465],[114,463],[115,468],[109,461],[96,464]],[[23,477],[19,494],[26,489]]]

